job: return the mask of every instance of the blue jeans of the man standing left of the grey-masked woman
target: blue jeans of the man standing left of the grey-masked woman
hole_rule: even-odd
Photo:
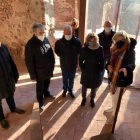
[[[73,91],[75,73],[76,69],[73,71],[62,70],[64,91],[69,91],[70,93]]]

